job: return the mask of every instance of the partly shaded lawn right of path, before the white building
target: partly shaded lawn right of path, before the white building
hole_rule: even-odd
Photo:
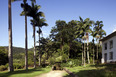
[[[116,77],[116,64],[87,65],[86,67],[66,67],[79,77]],[[70,77],[66,74],[64,77]]]

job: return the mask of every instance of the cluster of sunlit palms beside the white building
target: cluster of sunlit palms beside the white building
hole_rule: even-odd
[[[85,60],[86,60],[86,52],[85,52],[85,41],[87,41],[87,59],[88,59],[88,64],[90,63],[89,60],[89,36],[91,35],[93,37],[92,42],[93,42],[93,64],[94,64],[94,39],[99,40],[103,38],[106,35],[106,32],[103,30],[103,22],[102,21],[92,21],[89,18],[86,18],[83,20],[81,17],[79,17],[80,21],[77,23],[77,38],[81,38],[82,42],[82,64],[85,66]],[[84,41],[84,46],[83,46],[83,41]],[[99,44],[99,43],[98,43]],[[98,44],[97,44],[97,53],[96,57],[98,59]]]

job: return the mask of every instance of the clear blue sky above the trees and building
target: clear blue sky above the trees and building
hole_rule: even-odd
[[[25,20],[20,16],[22,1],[12,3],[13,46],[25,47]],[[28,0],[28,3],[31,2]],[[56,20],[79,20],[90,18],[103,21],[107,35],[116,30],[116,0],[36,0],[41,5],[48,27],[43,27],[43,37],[48,37]],[[28,48],[33,47],[33,29],[28,17]],[[36,28],[37,29],[37,28]],[[36,34],[36,40],[38,35]],[[0,0],[0,46],[8,46],[8,0]]]

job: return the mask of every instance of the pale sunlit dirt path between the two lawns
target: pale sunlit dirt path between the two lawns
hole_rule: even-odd
[[[41,74],[36,77],[63,77],[63,74],[66,73],[65,71],[50,71],[46,74]]]

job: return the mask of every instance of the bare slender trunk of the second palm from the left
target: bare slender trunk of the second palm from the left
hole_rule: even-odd
[[[25,15],[25,69],[28,70],[27,16]]]

